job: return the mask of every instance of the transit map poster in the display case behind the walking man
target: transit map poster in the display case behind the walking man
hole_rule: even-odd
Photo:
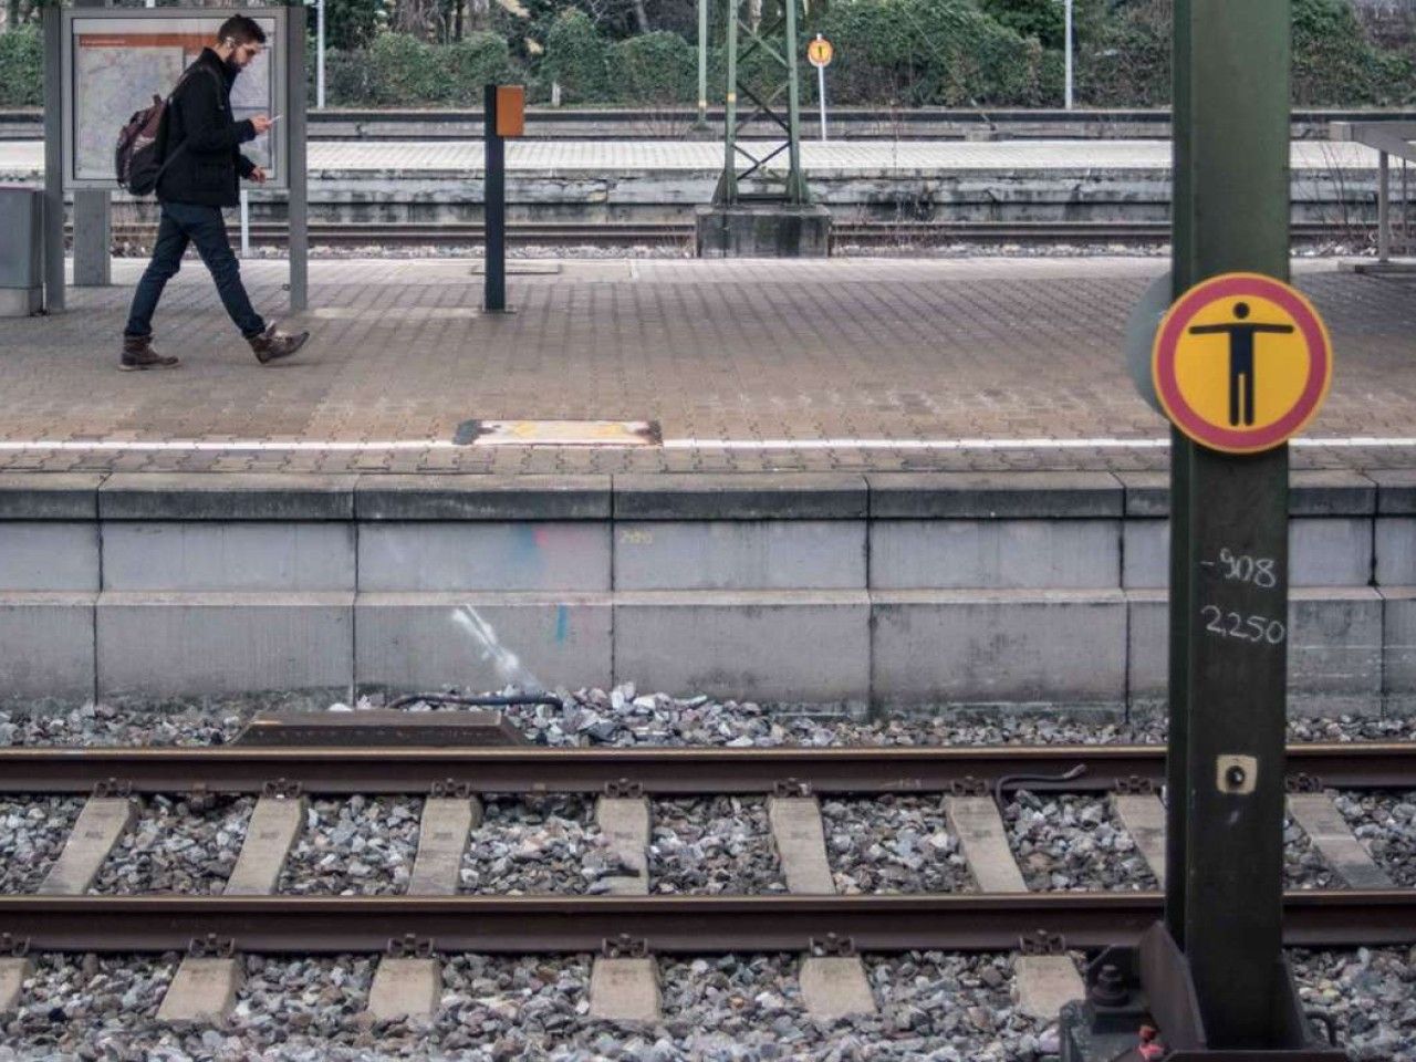
[[[113,147],[133,112],[163,99],[183,71],[211,47],[228,11],[205,10],[69,10],[64,35],[64,146],[65,187],[115,188]],[[265,30],[266,47],[236,78],[231,109],[239,122],[253,115],[282,113],[285,11],[253,13]],[[286,123],[278,122],[265,136],[241,150],[266,169],[265,187],[285,184]]]

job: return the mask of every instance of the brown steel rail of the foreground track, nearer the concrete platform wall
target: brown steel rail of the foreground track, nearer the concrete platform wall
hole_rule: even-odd
[[[1161,745],[851,748],[7,748],[0,793],[469,793],[881,794],[978,789],[1018,775],[1035,790],[1160,784]],[[1416,787],[1416,742],[1294,745],[1290,777],[1340,789]]]

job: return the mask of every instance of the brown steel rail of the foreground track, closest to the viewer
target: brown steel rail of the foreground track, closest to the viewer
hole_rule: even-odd
[[[1134,943],[1158,892],[919,896],[0,896],[0,935],[31,952],[858,952]],[[1290,892],[1284,942],[1416,943],[1416,889]]]

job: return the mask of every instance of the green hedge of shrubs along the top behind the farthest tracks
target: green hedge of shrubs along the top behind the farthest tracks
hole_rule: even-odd
[[[548,101],[551,85],[558,84],[568,105],[691,106],[697,98],[691,40],[658,31],[616,41],[581,7],[558,10],[562,0],[524,0],[535,13],[530,23],[493,6],[487,24],[504,28],[510,38],[479,31],[450,44],[379,30],[382,7],[375,0],[330,3],[331,11],[361,13],[357,25],[346,27],[348,33],[330,35],[331,42],[357,45],[326,55],[334,106],[476,108],[489,81],[525,82],[537,102]],[[1058,106],[1059,10],[1056,0],[814,3],[801,28],[800,54],[818,31],[833,41],[827,92],[841,106]],[[1171,0],[1076,0],[1078,102],[1164,106],[1170,101],[1171,17]],[[1296,105],[1410,103],[1416,101],[1413,55],[1374,44],[1351,0],[1293,3]],[[775,85],[782,78],[780,67],[760,50],[745,64],[749,82]],[[312,61],[312,81],[313,67]],[[722,99],[724,67],[715,44],[708,57],[714,102]],[[816,96],[806,62],[801,95],[803,102]],[[0,106],[41,102],[38,27],[0,34]]]

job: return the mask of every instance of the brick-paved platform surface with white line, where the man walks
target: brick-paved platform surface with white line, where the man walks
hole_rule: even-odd
[[[261,368],[190,261],[156,320],[170,372],[115,371],[143,263],[69,312],[0,320],[0,469],[756,472],[1163,469],[1126,317],[1161,259],[568,261],[480,313],[472,263],[316,261],[314,338]],[[283,262],[248,262],[279,313]],[[1416,280],[1303,262],[1337,346],[1296,467],[1416,466]],[[469,419],[649,419],[663,445],[453,446]],[[62,443],[67,449],[54,445]],[[188,446],[202,445],[207,449]],[[389,446],[392,445],[392,446]],[[292,446],[292,449],[278,449]],[[125,449],[126,447],[126,449]],[[166,447],[166,449],[153,449]],[[276,447],[276,449],[272,449]]]

